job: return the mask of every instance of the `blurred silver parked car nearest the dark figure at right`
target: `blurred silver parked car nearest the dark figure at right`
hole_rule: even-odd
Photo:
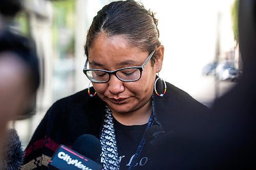
[[[223,61],[216,67],[216,76],[220,81],[238,81],[241,77],[241,72],[234,67],[233,61]]]

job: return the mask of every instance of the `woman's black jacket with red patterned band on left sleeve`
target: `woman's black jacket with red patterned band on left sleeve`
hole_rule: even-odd
[[[170,138],[174,136],[193,140],[203,138],[204,126],[207,125],[209,117],[208,108],[181,89],[166,84],[165,95],[163,97],[155,95],[156,115],[165,133],[172,134]],[[47,164],[59,144],[72,147],[76,138],[83,134],[92,134],[99,138],[104,106],[105,103],[98,95],[90,97],[87,89],[54,103],[28,144],[23,169],[40,169],[40,167],[47,169]],[[164,148],[164,145],[162,146]],[[166,154],[165,151],[163,155]],[[158,154],[154,147],[152,153]],[[167,159],[165,156],[160,160],[161,164]]]

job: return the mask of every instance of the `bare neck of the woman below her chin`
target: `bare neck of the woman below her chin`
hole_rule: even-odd
[[[143,107],[128,113],[118,113],[112,111],[112,115],[115,119],[126,126],[131,125],[144,125],[148,123],[152,113],[152,104],[151,100],[148,101]]]

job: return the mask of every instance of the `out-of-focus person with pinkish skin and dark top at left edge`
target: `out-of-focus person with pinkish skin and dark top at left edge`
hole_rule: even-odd
[[[0,155],[8,123],[26,115],[28,102],[39,85],[38,59],[33,41],[9,29],[0,32]],[[12,132],[10,132],[12,133]],[[16,132],[13,132],[14,134]],[[7,137],[8,138],[8,137]],[[9,140],[9,139],[7,139]],[[7,143],[12,144],[12,143]],[[6,148],[4,148],[6,149]],[[4,153],[5,154],[5,153]],[[5,155],[4,155],[5,157]],[[11,158],[7,158],[11,159]],[[0,159],[0,163],[1,163]]]

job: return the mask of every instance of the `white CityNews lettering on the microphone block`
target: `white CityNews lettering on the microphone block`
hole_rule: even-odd
[[[81,161],[78,161],[77,159],[72,159],[68,154],[66,154],[65,152],[59,152],[58,153],[58,158],[62,159],[63,161],[66,161],[67,164],[69,165],[74,165],[79,169],[82,170],[93,170],[89,167],[87,167],[86,165],[82,164]]]

